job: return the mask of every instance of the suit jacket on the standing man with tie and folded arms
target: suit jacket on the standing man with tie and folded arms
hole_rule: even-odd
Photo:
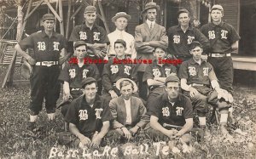
[[[143,43],[149,43],[150,46],[143,46]],[[158,24],[154,24],[154,28],[150,31],[148,24],[144,22],[135,28],[135,48],[137,50],[137,59],[154,60],[154,47],[159,45],[168,46],[168,37],[166,36],[166,28]],[[146,64],[141,64],[137,71],[145,71]]]

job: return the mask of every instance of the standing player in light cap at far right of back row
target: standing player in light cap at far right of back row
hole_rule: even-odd
[[[212,64],[221,88],[232,94],[233,62],[231,52],[238,48],[240,39],[235,28],[223,22],[224,9],[221,5],[213,5],[212,22],[201,26],[201,32],[208,37],[211,47],[208,61]]]

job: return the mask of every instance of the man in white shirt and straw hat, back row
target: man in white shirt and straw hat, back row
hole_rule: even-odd
[[[126,14],[125,12],[119,12],[115,14],[111,20],[116,26],[116,29],[115,31],[108,34],[110,42],[108,57],[116,55],[114,51],[114,42],[117,39],[122,39],[125,40],[126,43],[125,54],[131,59],[136,59],[137,54],[134,48],[134,37],[125,31],[125,28],[128,25],[128,21],[131,20],[131,15]]]

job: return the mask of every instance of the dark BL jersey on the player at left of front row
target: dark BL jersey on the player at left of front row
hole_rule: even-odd
[[[80,133],[88,136],[96,131],[100,132],[102,122],[112,121],[113,116],[108,106],[108,101],[96,95],[94,105],[90,107],[84,95],[71,102],[65,116],[66,122],[71,122],[79,129]]]

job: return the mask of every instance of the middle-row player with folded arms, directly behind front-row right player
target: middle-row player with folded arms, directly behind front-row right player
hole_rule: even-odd
[[[166,47],[159,45],[154,48],[155,59],[146,67],[143,82],[148,83],[149,93],[147,103],[151,103],[158,95],[165,93],[166,77],[177,75],[176,67],[163,62],[166,59]]]

